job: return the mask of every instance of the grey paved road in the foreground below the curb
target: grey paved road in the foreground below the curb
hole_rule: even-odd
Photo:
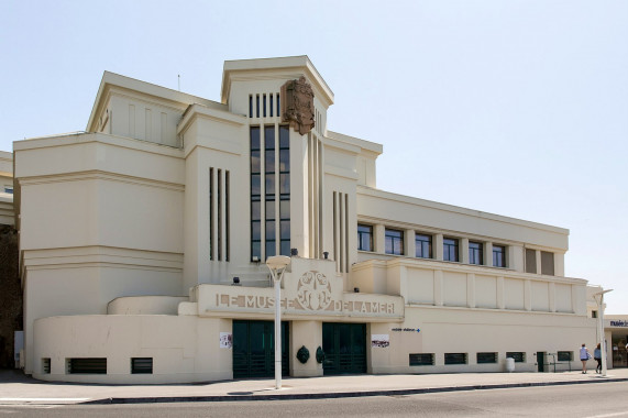
[[[318,400],[0,406],[1,417],[588,417],[628,418],[628,383]]]

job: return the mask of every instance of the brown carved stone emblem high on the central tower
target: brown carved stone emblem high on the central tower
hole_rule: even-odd
[[[313,90],[304,76],[282,86],[282,121],[301,135],[315,125]]]

